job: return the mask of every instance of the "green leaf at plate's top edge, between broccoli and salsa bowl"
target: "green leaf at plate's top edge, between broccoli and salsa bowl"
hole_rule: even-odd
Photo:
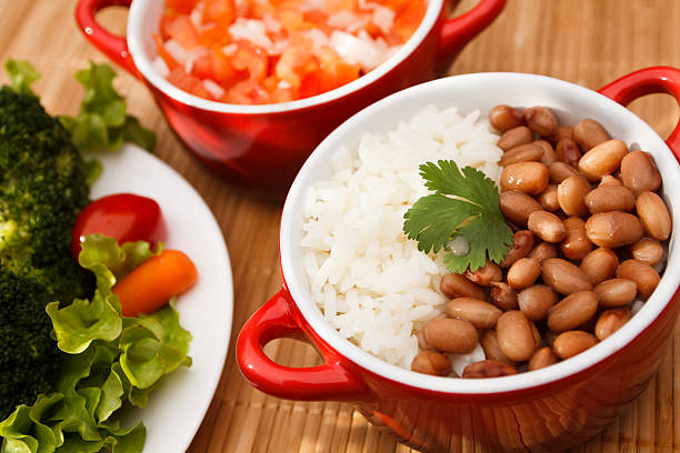
[[[130,141],[149,151],[156,147],[156,134],[137,118],[126,113],[127,103],[113,88],[116,72],[108,64],[96,64],[76,72],[86,93],[77,117],[61,117],[81,151],[114,150]]]

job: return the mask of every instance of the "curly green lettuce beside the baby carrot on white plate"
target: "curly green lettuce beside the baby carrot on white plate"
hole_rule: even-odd
[[[79,262],[94,273],[97,290],[89,301],[48,305],[58,346],[67,353],[56,392],[0,422],[0,453],[141,452],[143,424],[120,426],[117,411],[146,406],[166,374],[191,365],[191,334],[173,300],[153,314],[124,318],[111,292],[153,254],[142,241],[119,246],[101,234],[86,239]]]

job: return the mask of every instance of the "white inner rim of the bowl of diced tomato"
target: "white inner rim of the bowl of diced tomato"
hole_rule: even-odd
[[[311,98],[301,99],[291,102],[281,102],[276,104],[263,105],[241,105],[228,104],[223,102],[209,101],[180,90],[172,83],[168,82],[152,67],[151,61],[156,58],[156,42],[152,33],[158,33],[158,24],[160,17],[164,10],[163,0],[134,0],[130,6],[128,14],[128,47],[130,56],[137,66],[137,69],[142,73],[152,85],[164,92],[172,99],[183,102],[188,105],[197,107],[204,110],[227,113],[270,113],[286,112],[296,109],[302,109],[310,105],[317,105],[324,102],[341,98],[352,91],[359,90],[369,83],[381,78],[391,71],[397,64],[407,58],[422,42],[428,32],[432,29],[443,0],[427,0],[428,10],[420,22],[420,26],[413,36],[387,61],[373,69],[366,76],[360,77],[351,83],[337,88],[334,90],[321,93]]]

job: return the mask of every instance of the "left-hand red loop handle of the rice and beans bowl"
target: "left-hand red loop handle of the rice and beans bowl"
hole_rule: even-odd
[[[290,293],[282,288],[246,322],[237,341],[237,361],[243,376],[256,389],[288,400],[362,400],[366,385],[342,365],[337,352],[320,341],[313,342],[324,359],[319,366],[282,366],[264,354],[262,348],[276,339],[310,341],[296,312]]]

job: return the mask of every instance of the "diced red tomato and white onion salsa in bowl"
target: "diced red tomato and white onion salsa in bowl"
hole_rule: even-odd
[[[166,0],[153,66],[200,98],[293,101],[374,69],[426,10],[424,0]]]

